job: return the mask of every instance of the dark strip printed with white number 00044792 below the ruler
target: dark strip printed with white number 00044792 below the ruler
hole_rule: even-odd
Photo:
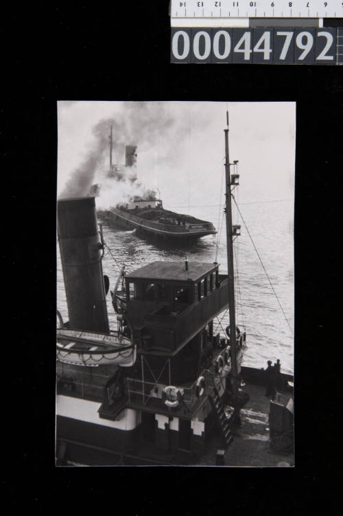
[[[173,63],[340,64],[336,28],[173,28]]]

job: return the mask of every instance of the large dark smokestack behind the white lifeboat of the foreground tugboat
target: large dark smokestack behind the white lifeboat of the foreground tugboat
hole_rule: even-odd
[[[110,333],[95,199],[61,199],[57,215],[69,326]]]

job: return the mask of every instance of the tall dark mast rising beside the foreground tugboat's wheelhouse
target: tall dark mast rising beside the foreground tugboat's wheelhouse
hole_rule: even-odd
[[[231,204],[231,177],[230,160],[228,157],[228,111],[226,111],[227,128],[225,133],[225,212],[226,212],[226,247],[228,258],[228,313],[230,316],[230,350],[231,350],[231,379],[233,389],[233,423],[240,423],[237,377],[237,350],[236,350],[236,318],[235,318],[235,276],[233,269],[233,217]]]

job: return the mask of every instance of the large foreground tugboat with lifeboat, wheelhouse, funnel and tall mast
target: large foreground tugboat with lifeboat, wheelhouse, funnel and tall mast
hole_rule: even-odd
[[[57,334],[56,464],[293,464],[293,378],[279,372],[278,392],[267,399],[265,372],[241,366],[246,333],[235,321],[233,274],[239,226],[231,215],[238,178],[230,175],[224,131],[228,274],[217,262],[187,259],[126,274],[124,289],[111,292],[119,333],[108,325],[95,199],[58,201],[69,322],[59,318]],[[221,336],[213,319],[227,307]]]

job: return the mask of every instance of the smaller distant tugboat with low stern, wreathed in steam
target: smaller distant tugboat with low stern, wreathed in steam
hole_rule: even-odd
[[[118,181],[127,180],[132,184],[136,183],[137,147],[126,146],[125,166],[113,164],[112,126],[109,138],[110,168],[106,171],[106,177],[112,177]],[[97,184],[93,185],[90,194],[97,195],[100,188],[101,186]],[[165,210],[162,200],[157,198],[154,190],[146,190],[141,197],[133,196],[128,203],[119,203],[98,214],[104,221],[117,229],[137,229],[137,234],[141,236],[153,236],[172,242],[189,243],[202,236],[217,233],[211,222]]]

